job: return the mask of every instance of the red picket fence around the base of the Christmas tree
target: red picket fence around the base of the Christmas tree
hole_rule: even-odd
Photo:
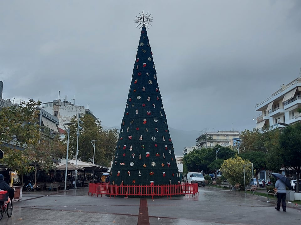
[[[172,197],[185,195],[198,194],[198,184],[182,183],[182,184],[171,184],[171,185],[111,185],[108,183],[89,183],[89,192],[91,196],[95,194],[98,197],[100,195],[108,196],[122,196],[122,197]]]

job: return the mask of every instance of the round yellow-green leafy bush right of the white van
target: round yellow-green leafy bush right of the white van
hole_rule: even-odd
[[[241,157],[237,156],[235,158],[229,158],[224,160],[224,163],[221,166],[224,177],[228,180],[229,183],[235,184],[240,183],[241,186],[244,185],[244,165],[250,164],[249,160],[244,160]],[[246,182],[251,179],[252,169],[251,165],[245,166],[246,172]]]

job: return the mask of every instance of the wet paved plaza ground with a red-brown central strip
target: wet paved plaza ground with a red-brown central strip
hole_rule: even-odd
[[[140,199],[88,196],[88,188],[62,192],[24,192],[13,216],[0,224],[300,224],[301,208],[220,188],[199,187],[199,196]]]

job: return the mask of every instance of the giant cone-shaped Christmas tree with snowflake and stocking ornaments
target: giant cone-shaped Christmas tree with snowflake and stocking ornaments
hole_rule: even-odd
[[[145,28],[146,17],[143,15],[141,18],[140,41],[110,183],[178,184],[180,175]]]

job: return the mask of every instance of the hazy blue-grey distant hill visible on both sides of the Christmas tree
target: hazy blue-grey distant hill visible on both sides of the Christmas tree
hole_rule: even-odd
[[[103,126],[104,130],[115,128],[117,130],[120,129],[120,127],[107,127]],[[185,147],[191,147],[194,146],[196,143],[196,138],[200,136],[200,131],[184,131],[184,130],[177,130],[174,128],[169,128],[170,136],[172,138],[173,148],[175,151],[175,155],[182,155],[183,149]]]

